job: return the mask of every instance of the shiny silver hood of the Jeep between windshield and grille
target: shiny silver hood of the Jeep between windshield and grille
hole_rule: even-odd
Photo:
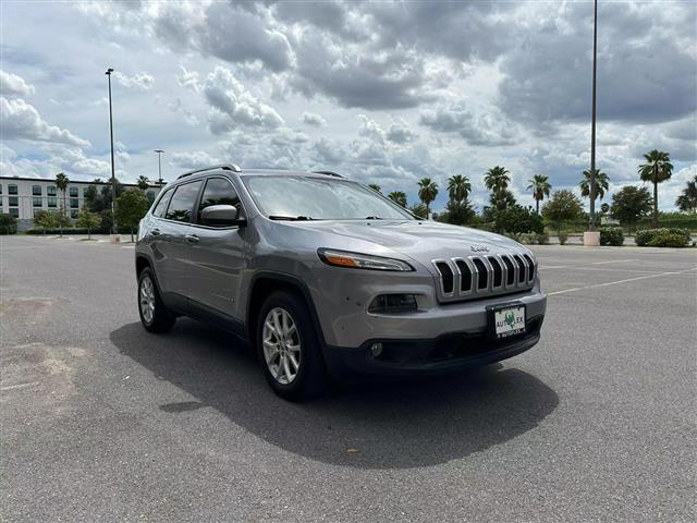
[[[425,265],[430,265],[432,259],[528,252],[519,243],[500,234],[436,221],[309,221],[293,222],[293,226],[330,233],[338,240],[335,245],[331,245],[333,248],[350,251],[355,243],[369,242]],[[475,251],[473,246],[488,251]],[[381,253],[368,251],[367,254]]]

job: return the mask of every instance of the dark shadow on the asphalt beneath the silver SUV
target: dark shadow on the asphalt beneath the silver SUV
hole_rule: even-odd
[[[271,391],[252,350],[197,321],[180,319],[161,336],[134,323],[110,338],[122,354],[196,399],[160,405],[163,412],[210,406],[271,445],[338,465],[401,469],[464,458],[535,428],[559,404],[535,376],[501,364],[354,385],[290,403]]]

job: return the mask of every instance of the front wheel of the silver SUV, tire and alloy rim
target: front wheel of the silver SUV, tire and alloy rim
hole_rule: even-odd
[[[279,338],[276,327],[281,330]],[[266,379],[278,396],[289,401],[304,401],[323,392],[325,360],[315,325],[301,296],[277,291],[266,299],[257,318],[256,346]]]

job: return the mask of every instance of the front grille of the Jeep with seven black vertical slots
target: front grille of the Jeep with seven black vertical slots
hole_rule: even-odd
[[[456,302],[529,290],[536,264],[525,253],[435,259],[439,300]]]

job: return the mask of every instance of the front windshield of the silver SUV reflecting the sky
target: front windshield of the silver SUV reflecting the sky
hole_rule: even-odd
[[[279,220],[413,220],[396,204],[335,178],[242,177],[257,207]]]

